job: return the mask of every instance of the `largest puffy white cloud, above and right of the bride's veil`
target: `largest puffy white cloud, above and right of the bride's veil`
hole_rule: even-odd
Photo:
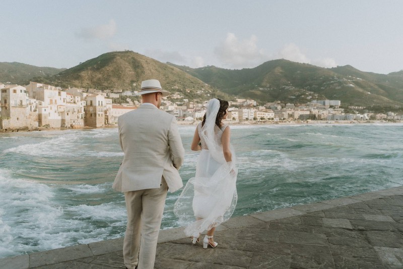
[[[215,48],[215,55],[229,68],[255,67],[268,60],[263,50],[257,47],[257,37],[238,40],[233,33],[228,33],[226,39]]]

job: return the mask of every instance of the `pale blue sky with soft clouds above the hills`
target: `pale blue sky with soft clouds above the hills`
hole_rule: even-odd
[[[400,0],[0,0],[0,12],[0,62],[72,68],[132,50],[192,68],[403,70]]]

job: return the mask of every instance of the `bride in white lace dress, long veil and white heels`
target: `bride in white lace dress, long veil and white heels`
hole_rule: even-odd
[[[189,179],[174,205],[179,223],[192,243],[199,242],[200,233],[208,230],[203,247],[216,247],[216,227],[227,221],[237,202],[235,154],[230,144],[230,128],[222,123],[227,118],[228,102],[209,101],[206,115],[193,136],[192,150],[201,150],[196,175]],[[196,220],[194,220],[196,217]]]

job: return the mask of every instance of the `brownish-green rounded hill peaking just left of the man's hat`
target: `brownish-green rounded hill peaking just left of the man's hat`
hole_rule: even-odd
[[[160,80],[163,88],[171,92],[180,92],[185,98],[204,97],[200,92],[205,93],[205,99],[209,98],[209,94],[217,97],[227,96],[176,67],[133,51],[104,53],[57,75],[34,77],[33,81],[62,88],[121,89],[124,91],[139,90],[141,82],[150,78]]]

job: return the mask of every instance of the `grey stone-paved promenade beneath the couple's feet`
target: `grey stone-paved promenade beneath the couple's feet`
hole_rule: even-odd
[[[403,268],[403,186],[234,217],[219,245],[161,231],[155,268]],[[0,259],[0,268],[124,268],[122,239]]]

